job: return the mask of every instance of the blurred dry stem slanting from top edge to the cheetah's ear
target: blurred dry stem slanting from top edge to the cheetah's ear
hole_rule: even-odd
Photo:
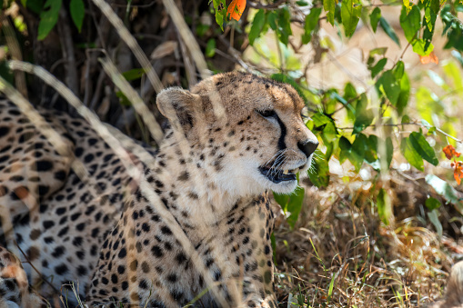
[[[96,6],[99,7],[101,12],[106,15],[106,18],[109,22],[116,28],[117,33],[121,36],[122,40],[126,43],[126,45],[132,50],[134,55],[136,56],[136,60],[142,65],[145,69],[146,75],[153,84],[153,87],[156,90],[156,93],[159,93],[163,89],[163,84],[159,80],[159,77],[156,75],[154,68],[149,63],[148,58],[143,53],[140,45],[136,42],[136,39],[133,35],[128,32],[126,26],[122,22],[122,20],[116,15],[110,5],[108,5],[104,0],[92,0]]]

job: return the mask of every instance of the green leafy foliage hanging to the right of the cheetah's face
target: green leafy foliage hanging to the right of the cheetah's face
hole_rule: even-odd
[[[297,5],[306,6],[307,3],[297,2]],[[304,20],[304,32],[300,37],[301,44],[312,43],[314,35],[317,35],[319,31],[322,18],[326,18],[327,23],[338,28],[342,25],[346,37],[354,35],[360,19],[365,18],[366,20],[369,19],[373,32],[377,32],[379,25],[393,42],[401,46],[396,31],[382,16],[380,6],[372,5],[371,8],[367,8],[363,5],[364,3],[357,0],[339,3],[336,0],[314,2]],[[456,11],[463,11],[462,5],[458,1],[448,2],[445,5],[438,0],[423,0],[418,4],[404,1],[401,6],[398,21],[408,42],[406,49],[410,46],[419,56],[421,63],[438,63],[438,58],[433,54],[434,45],[432,44],[438,15],[445,25],[443,35],[448,37],[446,47],[456,48],[459,52],[463,51],[461,43],[462,23],[455,13]],[[325,16],[322,14],[323,11]],[[271,29],[282,46],[287,46],[289,37],[292,35],[290,24],[291,12],[287,5],[281,5],[277,9],[260,8],[252,19],[249,44],[256,45],[259,38]],[[404,63],[398,61],[392,64],[390,59],[385,57],[386,51],[387,47],[373,49],[367,58],[367,67],[376,89],[377,98],[375,101],[372,100],[371,93],[365,90],[357,93],[357,89],[350,83],[346,84],[344,96],[341,96],[337,89],[317,92],[316,89],[310,90],[310,87],[304,84],[303,80],[296,81],[283,74],[277,75],[277,80],[293,85],[302,97],[311,104],[316,104],[317,112],[312,115],[307,127],[323,141],[325,150],[323,152],[317,150],[314,156],[312,169],[308,173],[312,184],[318,187],[325,187],[329,184],[329,165],[327,162],[332,157],[336,158],[340,164],[348,161],[356,172],[364,167],[364,163],[369,164],[378,173],[387,172],[391,167],[394,152],[402,154],[403,159],[420,172],[425,172],[429,168],[428,164],[431,166],[439,164],[437,150],[442,146],[441,143],[446,141],[447,135],[442,134],[444,131],[438,130],[437,126],[432,124],[434,120],[432,116],[429,116],[429,110],[425,110],[428,108],[424,106],[427,104],[425,102],[428,102],[428,104],[435,106],[432,113],[438,113],[440,102],[436,99],[435,94],[428,89],[418,89],[415,97],[418,110],[421,108],[419,106],[423,106],[421,112],[423,121],[420,123],[417,120],[412,120],[408,115],[404,115],[407,114],[408,104],[412,98],[410,79]],[[460,54],[457,53],[456,55]],[[452,65],[448,64],[448,75],[453,76],[452,79],[456,83],[453,89],[459,91],[461,78],[457,73],[458,70]],[[437,80],[438,78],[440,77],[434,76],[434,79]],[[447,86],[444,82],[441,82],[440,85],[442,87]],[[346,109],[347,120],[352,123],[350,133],[338,126],[338,121],[341,118],[335,114],[340,109]],[[404,128],[406,125],[418,128],[418,130],[402,134],[399,138],[393,138],[391,135],[380,137],[377,132],[372,133],[369,130],[372,126],[383,126],[383,132],[391,132],[394,128]],[[455,180],[459,184],[463,178],[463,163],[455,161],[452,163],[452,167],[455,170]],[[442,189],[442,185],[439,186],[435,179],[428,178],[428,184],[438,194],[448,198],[448,195],[446,196],[448,190]],[[276,200],[285,211],[288,204],[299,202],[296,195],[292,197],[276,195]],[[452,203],[457,202],[454,198],[448,198],[448,200],[453,200],[450,201]],[[429,198],[427,202],[429,210],[437,209],[437,202],[438,200]],[[384,224],[388,224],[392,214],[388,206],[390,207],[388,193],[381,189],[377,197],[377,211]],[[432,217],[436,218],[435,216]],[[290,220],[290,224],[294,226],[293,218]]]

